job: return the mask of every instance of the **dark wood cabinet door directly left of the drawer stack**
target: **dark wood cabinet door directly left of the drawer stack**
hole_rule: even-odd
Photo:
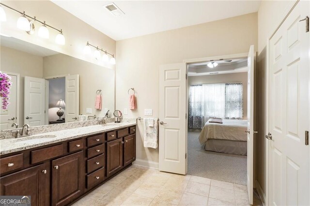
[[[52,161],[53,206],[66,205],[83,193],[84,171],[83,151]]]

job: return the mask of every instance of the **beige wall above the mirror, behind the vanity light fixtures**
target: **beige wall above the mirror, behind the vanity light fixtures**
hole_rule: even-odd
[[[27,15],[36,16],[37,19],[46,21],[47,24],[57,29],[62,29],[66,44],[56,44],[55,37],[58,34],[58,31],[50,28],[48,28],[49,39],[38,37],[37,31],[41,26],[40,23],[35,23],[36,28],[33,35],[28,35],[25,31],[17,29],[16,21],[20,14],[9,10],[4,6],[2,6],[2,8],[6,12],[7,21],[1,22],[0,24],[1,33],[3,34],[93,63],[98,62],[95,62],[93,58],[86,56],[83,53],[87,41],[89,41],[90,44],[102,47],[111,54],[115,54],[116,43],[113,39],[97,29],[94,29],[76,16],[71,15],[49,0],[1,0],[1,3],[11,6],[18,11],[25,11]],[[114,65],[109,64],[103,66],[115,68]]]

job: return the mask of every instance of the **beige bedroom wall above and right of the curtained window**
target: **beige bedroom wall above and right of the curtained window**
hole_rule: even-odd
[[[189,76],[188,87],[193,84],[216,84],[216,83],[233,83],[241,82],[243,86],[243,118],[248,116],[248,73],[233,73],[233,74],[214,74],[203,76]]]

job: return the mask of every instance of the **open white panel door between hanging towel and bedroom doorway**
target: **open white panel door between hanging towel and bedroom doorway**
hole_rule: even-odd
[[[159,68],[159,170],[186,174],[186,64]]]

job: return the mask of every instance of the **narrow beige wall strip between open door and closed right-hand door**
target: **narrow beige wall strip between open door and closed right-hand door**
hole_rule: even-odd
[[[266,43],[280,23],[284,12],[293,5],[294,0],[263,0],[258,11],[258,182],[266,192]]]

